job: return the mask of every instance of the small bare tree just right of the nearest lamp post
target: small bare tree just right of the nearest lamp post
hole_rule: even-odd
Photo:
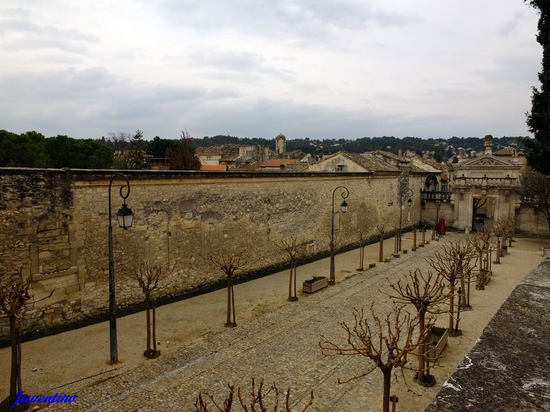
[[[157,350],[157,334],[156,334],[156,305],[155,299],[151,297],[154,290],[159,288],[159,283],[173,273],[173,269],[165,270],[162,273],[164,266],[153,262],[143,262],[140,267],[135,267],[128,277],[137,282],[142,292],[145,295],[145,310],[147,319],[147,349],[143,352],[146,358],[157,358],[160,351]],[[153,325],[151,328],[151,309],[153,309]],[[151,334],[153,335],[153,348],[151,348]]]

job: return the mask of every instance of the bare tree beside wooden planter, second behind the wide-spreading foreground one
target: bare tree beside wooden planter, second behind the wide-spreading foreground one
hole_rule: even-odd
[[[412,304],[417,310],[418,317],[418,330],[420,336],[428,337],[429,331],[426,331],[426,314],[441,313],[438,310],[437,305],[445,301],[448,296],[443,292],[445,285],[443,284],[443,277],[440,273],[434,275],[428,271],[428,275],[424,276],[420,269],[416,269],[414,272],[409,271],[405,277],[406,284],[401,284],[401,279],[397,281],[397,284],[390,283],[391,288],[395,290],[397,295],[388,295],[397,303]],[[430,359],[434,361],[434,359]],[[430,379],[429,371],[425,376],[426,371],[426,339],[420,342],[418,351],[418,375],[419,382],[428,382]]]

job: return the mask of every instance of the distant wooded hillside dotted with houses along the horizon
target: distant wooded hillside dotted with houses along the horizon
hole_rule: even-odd
[[[524,137],[495,137],[493,139],[493,150],[506,146],[524,148],[522,144]],[[421,139],[419,137],[404,137],[398,139],[393,136],[362,137],[360,139],[287,139],[287,150],[302,150],[312,155],[330,155],[338,150],[348,152],[368,152],[371,150],[386,150],[397,153],[398,150],[412,150],[418,155],[424,151],[433,152],[437,161],[446,160],[458,153],[459,148],[464,148],[467,153],[472,151],[483,152],[483,137],[451,137],[450,139]],[[275,148],[274,139],[263,139],[261,137],[234,137],[217,135],[193,139],[195,147],[213,146],[218,144],[259,144]]]

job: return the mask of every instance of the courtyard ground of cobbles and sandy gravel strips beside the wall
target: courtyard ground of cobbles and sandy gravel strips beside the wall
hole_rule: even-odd
[[[297,410],[314,391],[308,411],[378,411],[380,371],[338,384],[338,378],[361,374],[371,363],[362,356],[323,356],[318,347],[320,334],[344,343],[338,321],[350,321],[353,308],[371,304],[378,313],[385,313],[392,303],[380,292],[388,292],[388,280],[396,282],[415,268],[428,271],[426,258],[439,244],[464,236],[450,233],[439,242],[390,262],[377,262],[375,268],[363,272],[356,270],[357,250],[341,253],[336,257],[336,286],[313,295],[300,294],[296,302],[286,301],[287,271],[238,284],[236,328],[223,328],[223,289],[159,307],[157,341],[162,355],[153,361],[142,356],[143,312],[118,320],[121,362],[117,365],[107,363],[107,322],[23,343],[23,388],[32,394],[63,391],[76,395],[76,402],[63,406],[70,411],[192,411],[199,391],[208,391],[223,402],[228,383],[248,391],[252,378],[263,378],[266,385],[276,382],[281,391],[290,387]],[[394,371],[391,393],[399,397],[398,411],[423,411],[511,290],[540,263],[540,246],[546,243],[516,238],[502,263],[493,266],[494,277],[485,290],[475,290],[472,283],[473,310],[461,313],[463,335],[449,339],[441,367],[432,369],[437,385],[419,387],[412,382],[412,372],[406,371],[412,393],[400,372]],[[404,249],[410,247],[412,234],[406,233]],[[384,251],[385,255],[393,251],[393,239],[385,241]],[[366,247],[365,266],[376,262],[377,255],[378,244]],[[298,266],[298,284],[313,275],[327,275],[328,270],[328,258]],[[439,325],[446,324],[446,316],[440,315]],[[9,362],[10,349],[3,348],[1,369],[9,370]],[[8,374],[2,376],[5,389],[1,396],[7,395],[8,378]]]

